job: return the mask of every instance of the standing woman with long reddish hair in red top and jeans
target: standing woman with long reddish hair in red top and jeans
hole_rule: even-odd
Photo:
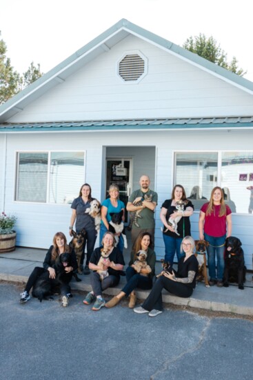
[[[227,232],[227,235],[226,235]],[[232,233],[232,212],[225,204],[219,186],[212,189],[209,203],[204,203],[199,214],[199,239],[208,241],[208,270],[210,286],[223,286],[225,238]],[[217,272],[215,268],[217,260]]]

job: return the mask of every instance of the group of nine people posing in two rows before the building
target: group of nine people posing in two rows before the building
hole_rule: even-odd
[[[72,216],[70,219],[70,236],[75,225],[75,230],[80,232],[85,228],[85,243],[81,264],[85,257],[85,247],[87,257],[83,274],[90,274],[92,291],[87,294],[83,303],[90,305],[93,303],[92,310],[112,308],[116,306],[123,297],[129,297],[129,308],[134,312],[147,312],[150,317],[155,317],[163,311],[161,292],[163,288],[178,297],[190,297],[195,285],[198,272],[198,261],[194,256],[195,244],[190,231],[190,216],[194,212],[194,206],[190,199],[186,198],[183,186],[176,185],[172,190],[170,199],[163,202],[161,206],[160,218],[163,223],[163,241],[165,245],[165,261],[173,264],[174,254],[178,259],[177,270],[163,272],[159,277],[155,276],[156,254],[154,252],[154,210],[157,205],[157,193],[150,190],[150,178],[142,175],[139,181],[140,188],[135,190],[129,198],[126,210],[129,212],[140,212],[141,218],[137,223],[132,224],[131,239],[132,252],[128,268],[123,272],[125,261],[123,258],[123,239],[119,236],[119,244],[115,247],[114,234],[109,231],[109,223],[112,212],[122,212],[123,221],[125,219],[125,205],[119,199],[119,188],[111,185],[109,197],[101,203],[101,228],[99,237],[99,247],[94,249],[97,240],[97,230],[94,219],[87,212],[90,208],[92,189],[88,183],[81,186],[79,197],[72,202]],[[179,208],[179,203],[183,203],[183,208]],[[177,229],[174,230],[173,223],[177,220]],[[204,203],[199,215],[199,239],[208,241],[208,268],[210,274],[210,286],[216,284],[223,286],[224,259],[223,251],[225,238],[232,232],[232,212],[225,204],[223,191],[216,186],[211,193],[210,201]],[[102,261],[102,251],[107,252],[107,259]],[[149,266],[137,271],[135,261],[137,254],[145,251],[146,261]],[[41,273],[48,271],[50,279],[54,279],[55,271],[53,268],[57,257],[63,252],[70,252],[65,235],[57,232],[54,235],[53,245],[46,254],[43,268],[34,268],[28,279],[26,288],[21,294],[20,301],[26,302],[30,299],[30,289]],[[70,280],[74,270],[77,269],[77,260],[74,252],[71,253],[71,265],[65,268],[68,273],[64,283],[60,284],[62,306],[68,305],[68,300],[72,297],[70,291]],[[216,268],[217,260],[217,268]],[[99,265],[98,265],[99,264]],[[100,270],[107,271],[107,275],[101,279]],[[125,273],[126,283],[119,294],[105,302],[103,291],[109,287],[117,286],[121,274]],[[136,288],[151,290],[148,298],[142,306],[136,307]]]

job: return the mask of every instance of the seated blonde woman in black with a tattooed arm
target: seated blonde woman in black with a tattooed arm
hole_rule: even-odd
[[[163,311],[162,290],[165,288],[177,297],[188,298],[196,286],[196,275],[198,272],[198,261],[194,256],[194,240],[186,236],[181,243],[181,251],[185,256],[179,260],[177,272],[165,272],[159,277],[142,306],[135,308],[134,312],[143,314],[148,312],[150,317],[156,317]]]

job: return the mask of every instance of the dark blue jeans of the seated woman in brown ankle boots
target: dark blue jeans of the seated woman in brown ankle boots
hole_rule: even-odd
[[[132,293],[132,291],[135,288],[140,288],[143,290],[148,290],[152,288],[152,278],[136,273],[134,268],[132,268],[131,266],[128,266],[128,268],[126,269],[125,276],[127,283],[122,289],[122,292],[124,292],[127,297],[130,293]]]

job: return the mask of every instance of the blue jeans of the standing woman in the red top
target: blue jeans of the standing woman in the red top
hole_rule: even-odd
[[[221,237],[212,237],[204,233],[205,240],[208,241],[208,271],[210,279],[218,281],[223,280],[224,274],[224,244],[225,235]],[[215,267],[215,259],[217,260],[217,275]]]

